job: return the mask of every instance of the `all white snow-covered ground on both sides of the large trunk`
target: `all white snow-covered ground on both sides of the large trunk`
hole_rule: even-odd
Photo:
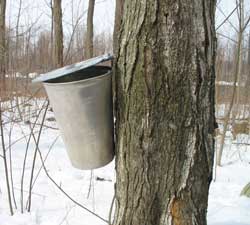
[[[5,116],[8,116],[6,114]],[[52,117],[49,112],[47,117]],[[4,122],[8,118],[4,117]],[[56,122],[46,120],[45,125],[56,127]],[[8,146],[11,124],[5,126],[5,141]],[[39,129],[39,126],[35,129]],[[16,140],[29,134],[29,124],[16,123],[12,131],[12,139]],[[37,133],[36,133],[37,135]],[[110,205],[114,193],[115,170],[114,161],[109,165],[91,171],[74,169],[66,155],[59,131],[44,128],[39,149],[46,158],[46,168],[55,182],[74,200],[91,211],[108,219]],[[57,138],[58,137],[58,138]],[[101,219],[91,215],[86,210],[69,200],[48,179],[42,169],[32,189],[31,213],[20,213],[20,181],[23,168],[24,153],[28,136],[16,142],[11,149],[13,186],[17,208],[14,216],[9,215],[6,183],[3,163],[0,163],[0,225],[104,225]],[[238,142],[250,143],[248,137],[241,137]],[[54,143],[53,147],[51,145]],[[51,149],[51,150],[50,150]],[[35,143],[32,139],[28,149],[28,159],[24,180],[24,207],[28,197],[29,180]],[[0,151],[2,154],[2,151]],[[7,151],[9,155],[9,150]],[[37,157],[35,177],[41,168]],[[209,225],[250,225],[250,199],[240,197],[245,184],[250,181],[250,146],[227,143],[223,167],[217,168],[216,181],[212,182],[209,194],[208,224]],[[101,179],[99,179],[101,178]],[[104,179],[104,180],[103,180]]]

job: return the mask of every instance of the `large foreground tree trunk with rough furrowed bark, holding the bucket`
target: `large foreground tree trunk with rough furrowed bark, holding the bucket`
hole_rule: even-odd
[[[214,0],[125,0],[115,225],[205,225],[214,156]]]

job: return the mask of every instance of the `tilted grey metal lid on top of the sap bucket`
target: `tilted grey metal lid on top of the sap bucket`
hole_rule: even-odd
[[[35,78],[34,80],[32,80],[32,83],[37,83],[37,82],[46,82],[48,80],[52,80],[58,77],[62,77],[65,76],[67,74],[71,74],[74,72],[77,72],[79,70],[83,70],[86,69],[88,67],[94,66],[98,63],[101,62],[106,62],[108,60],[111,60],[113,58],[113,56],[111,54],[105,54],[105,55],[101,55],[95,58],[91,58],[79,63],[75,63],[75,64],[71,64],[68,66],[64,66],[62,68],[56,69],[56,70],[52,70],[48,73],[45,74],[40,74],[39,77]]]

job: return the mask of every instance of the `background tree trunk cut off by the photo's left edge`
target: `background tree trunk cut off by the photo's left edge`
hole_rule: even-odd
[[[0,0],[0,97],[4,97],[6,94],[6,40],[5,40],[5,11],[6,0]]]

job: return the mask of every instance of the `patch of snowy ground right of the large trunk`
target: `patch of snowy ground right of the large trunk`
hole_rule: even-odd
[[[223,166],[217,167],[208,202],[208,225],[250,225],[250,199],[240,196],[250,181],[250,143],[246,135],[227,141]]]

